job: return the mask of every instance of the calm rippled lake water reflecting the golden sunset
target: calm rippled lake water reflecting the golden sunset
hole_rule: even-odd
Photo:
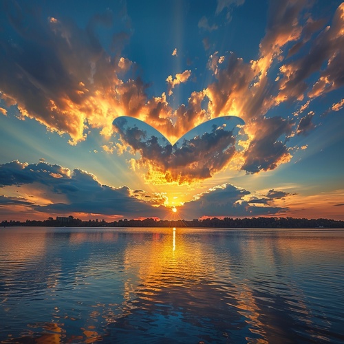
[[[343,343],[344,230],[0,228],[0,340]]]

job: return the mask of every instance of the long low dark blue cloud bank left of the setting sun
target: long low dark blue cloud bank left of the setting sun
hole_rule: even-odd
[[[100,184],[91,173],[80,169],[70,171],[45,162],[26,164],[14,161],[1,164],[0,187],[6,186],[21,186],[19,191],[25,189],[25,193],[29,189],[32,199],[1,196],[1,204],[26,204],[41,213],[98,213],[130,217],[164,217],[166,213],[164,207],[156,206],[155,200],[144,202],[142,197],[136,198],[127,186],[114,188]],[[38,197],[37,189],[43,189],[45,204],[35,202]],[[56,201],[56,197],[63,202]]]

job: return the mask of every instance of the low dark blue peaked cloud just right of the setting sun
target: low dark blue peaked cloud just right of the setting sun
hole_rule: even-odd
[[[195,200],[184,203],[180,211],[193,217],[246,217],[278,214],[286,211],[279,206],[250,203],[252,195],[249,191],[237,188],[232,184],[215,186],[195,197]]]

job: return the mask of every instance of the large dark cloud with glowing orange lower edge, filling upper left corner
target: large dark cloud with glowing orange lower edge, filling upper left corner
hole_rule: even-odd
[[[42,18],[25,4],[3,6],[3,25],[10,31],[0,33],[1,98],[17,105],[23,117],[68,133],[72,143],[85,139],[87,127],[109,134],[118,112],[125,114],[128,103],[138,102],[131,88],[140,87],[118,77],[131,65],[120,56],[129,34],[115,34],[112,56],[96,35],[99,25],[111,25],[114,14],[97,14],[82,29],[72,21]]]

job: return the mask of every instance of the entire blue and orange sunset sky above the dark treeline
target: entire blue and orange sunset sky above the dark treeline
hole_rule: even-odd
[[[343,2],[0,6],[0,221],[344,220]]]

